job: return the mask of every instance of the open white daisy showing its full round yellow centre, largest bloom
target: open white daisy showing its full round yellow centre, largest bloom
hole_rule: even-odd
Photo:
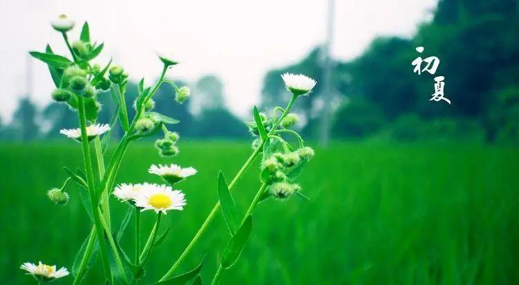
[[[173,190],[167,185],[150,185],[143,189],[135,201],[135,205],[143,208],[141,211],[154,210],[156,213],[167,210],[183,210],[185,203],[184,194],[179,190]]]

